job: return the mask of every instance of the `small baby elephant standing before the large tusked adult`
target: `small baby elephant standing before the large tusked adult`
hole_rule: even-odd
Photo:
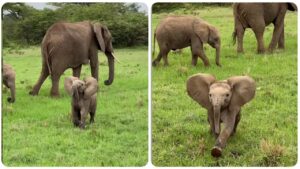
[[[85,128],[85,120],[90,113],[90,123],[94,122],[97,107],[97,80],[87,77],[83,81],[77,77],[65,79],[65,90],[72,97],[72,120],[75,126]]]

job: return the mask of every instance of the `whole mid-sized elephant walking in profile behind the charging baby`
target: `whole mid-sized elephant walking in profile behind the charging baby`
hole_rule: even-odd
[[[154,34],[159,46],[157,58],[152,62],[156,66],[161,58],[164,65],[168,65],[168,53],[170,50],[182,49],[190,46],[192,52],[192,65],[197,65],[200,57],[205,66],[209,66],[209,61],[204,53],[203,44],[208,43],[216,49],[216,64],[221,66],[220,47],[221,40],[218,30],[207,22],[192,16],[169,16],[163,19],[157,26]]]

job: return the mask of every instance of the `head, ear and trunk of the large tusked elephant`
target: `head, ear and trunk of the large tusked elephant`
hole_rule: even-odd
[[[109,32],[108,28],[104,25],[101,25],[100,23],[95,23],[93,25],[93,30],[96,35],[97,41],[98,41],[98,48],[105,53],[108,60],[108,66],[109,66],[109,77],[108,80],[106,80],[104,83],[105,85],[112,84],[114,80],[114,59],[115,56],[113,54],[114,49],[112,46],[112,36]]]

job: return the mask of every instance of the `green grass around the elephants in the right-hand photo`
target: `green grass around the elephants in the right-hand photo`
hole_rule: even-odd
[[[215,50],[205,45],[211,67],[199,59],[191,66],[190,49],[169,53],[170,66],[161,62],[152,68],[152,163],[155,166],[292,166],[297,162],[297,13],[285,18],[286,49],[256,54],[254,33],[247,29],[244,54],[232,44],[231,7],[205,7],[152,15],[152,30],[168,14],[196,15],[215,25],[221,33],[221,64]],[[152,31],[152,32],[153,32]],[[266,28],[267,47],[273,26]],[[152,35],[153,39],[153,35]],[[156,43],[157,45],[157,43]],[[158,54],[156,46],[156,55]],[[155,57],[156,57],[155,55]],[[154,57],[152,57],[152,60]],[[215,143],[209,133],[207,114],[186,93],[186,80],[195,73],[210,73],[217,79],[250,75],[257,83],[254,100],[242,109],[237,133],[228,141],[223,156],[215,159]]]

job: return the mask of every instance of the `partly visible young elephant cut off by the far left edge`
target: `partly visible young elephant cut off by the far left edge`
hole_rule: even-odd
[[[3,73],[3,83],[4,85],[10,89],[11,97],[7,98],[7,101],[10,103],[13,103],[16,101],[15,95],[16,95],[16,85],[15,85],[15,78],[16,78],[16,72],[13,70],[13,68],[8,64],[3,64],[2,67],[2,73]]]

